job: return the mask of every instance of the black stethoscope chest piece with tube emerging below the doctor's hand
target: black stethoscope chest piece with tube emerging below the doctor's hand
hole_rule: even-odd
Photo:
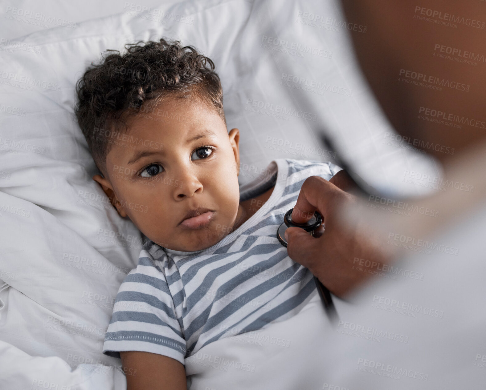
[[[294,208],[291,208],[289,211],[285,213],[283,217],[283,223],[280,226],[278,226],[277,229],[278,241],[280,241],[280,243],[284,247],[287,247],[287,240],[285,239],[284,234],[289,227],[300,227],[301,229],[304,229],[306,232],[308,232],[311,236],[313,236],[314,231],[319,226],[321,226],[322,223],[322,217],[317,211],[314,212],[312,218],[308,220],[306,223],[295,223],[292,221],[292,210],[294,210]],[[317,286],[317,291],[319,292],[321,300],[324,304],[324,309],[326,310],[326,313],[330,321],[335,324],[336,321],[339,320],[339,317],[337,315],[336,307],[332,302],[331,294],[329,290],[315,276],[314,276],[314,282],[315,285]]]

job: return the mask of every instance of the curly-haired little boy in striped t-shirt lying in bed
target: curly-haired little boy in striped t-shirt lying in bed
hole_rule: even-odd
[[[128,46],[86,71],[75,108],[103,174],[93,179],[148,238],[103,353],[137,370],[129,390],[186,389],[186,357],[286,320],[317,293],[276,232],[304,180],[339,168],[278,159],[240,191],[239,130],[227,132],[213,62],[177,41]]]

